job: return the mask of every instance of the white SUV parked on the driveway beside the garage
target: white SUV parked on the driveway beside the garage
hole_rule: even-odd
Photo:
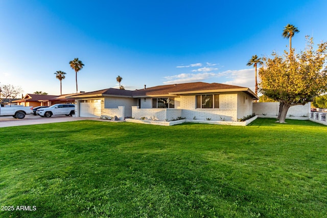
[[[49,108],[40,108],[37,114],[42,117],[51,117],[52,115],[73,115],[75,114],[75,105],[72,104],[55,104]]]

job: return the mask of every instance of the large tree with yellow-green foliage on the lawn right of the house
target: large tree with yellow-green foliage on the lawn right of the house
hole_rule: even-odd
[[[279,56],[273,52],[272,58],[263,58],[259,90],[268,98],[281,102],[279,123],[285,123],[291,106],[312,102],[315,96],[327,91],[327,42],[318,44],[314,50],[313,39],[307,37],[307,41],[305,51],[297,55],[285,51]]]

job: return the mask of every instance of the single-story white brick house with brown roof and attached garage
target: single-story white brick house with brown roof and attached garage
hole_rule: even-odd
[[[77,116],[177,117],[199,120],[237,121],[252,114],[253,100],[259,100],[249,88],[220,83],[183,83],[140,90],[103,89],[74,95]]]

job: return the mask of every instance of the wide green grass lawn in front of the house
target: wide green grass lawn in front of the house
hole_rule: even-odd
[[[0,217],[327,217],[327,127],[273,122],[0,128]]]

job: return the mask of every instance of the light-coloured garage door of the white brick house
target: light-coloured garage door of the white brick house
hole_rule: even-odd
[[[101,116],[101,100],[81,100],[80,116],[82,117],[100,117]]]

